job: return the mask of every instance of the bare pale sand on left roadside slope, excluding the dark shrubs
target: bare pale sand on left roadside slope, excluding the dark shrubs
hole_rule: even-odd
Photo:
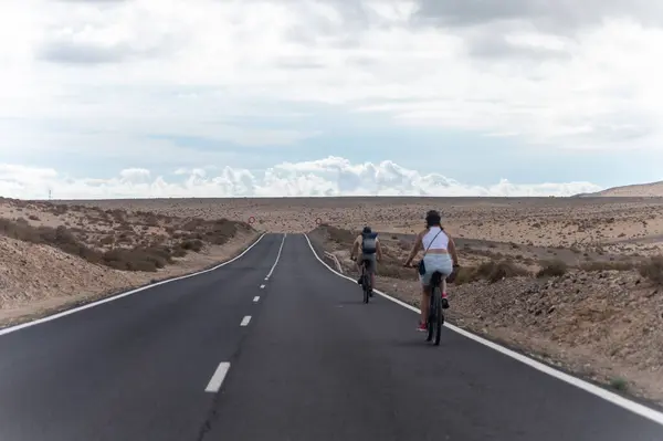
[[[151,237],[160,244],[173,245],[177,242],[165,228],[166,224],[173,224],[176,219],[161,218],[152,221],[147,216],[151,225],[146,225],[138,222],[139,217],[128,214],[123,216],[119,222],[110,220],[105,223],[98,213],[98,210],[88,209],[57,212],[43,203],[0,201],[0,219],[19,220],[19,224],[21,220],[28,220],[24,224],[33,229],[67,225],[73,229],[67,231],[73,231],[73,237],[80,239],[81,243],[99,252],[114,248],[129,250]],[[119,228],[127,222],[127,228]],[[181,231],[177,230],[175,235],[179,232]],[[173,256],[170,264],[155,271],[125,271],[91,262],[53,244],[35,243],[32,237],[30,241],[17,240],[3,237],[0,231],[0,326],[41,317],[133,287],[212,266],[232,259],[259,235],[257,231],[246,225],[223,244],[203,242],[200,251]],[[114,240],[99,242],[102,238]]]

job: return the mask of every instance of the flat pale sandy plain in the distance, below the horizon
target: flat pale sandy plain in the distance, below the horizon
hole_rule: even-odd
[[[105,209],[203,219],[248,222],[254,217],[256,229],[273,232],[307,232],[323,222],[347,229],[368,223],[383,232],[413,233],[423,224],[425,211],[433,208],[443,213],[446,229],[457,238],[620,254],[663,250],[663,198],[242,198],[101,203]]]

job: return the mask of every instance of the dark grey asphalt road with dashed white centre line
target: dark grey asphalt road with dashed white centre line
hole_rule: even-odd
[[[417,318],[365,305],[303,235],[267,234],[213,272],[0,335],[0,440],[663,440],[451,330],[427,345]]]

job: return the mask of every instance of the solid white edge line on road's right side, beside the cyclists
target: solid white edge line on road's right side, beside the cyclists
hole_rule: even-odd
[[[355,281],[351,277],[348,277],[348,276],[346,276],[344,274],[340,274],[339,272],[337,272],[336,270],[334,270],[332,266],[329,266],[325,261],[323,261],[318,256],[318,254],[315,252],[315,249],[313,248],[313,244],[311,243],[311,240],[308,239],[308,234],[304,234],[304,238],[306,238],[306,241],[308,242],[308,246],[311,248],[311,251],[313,252],[313,254],[315,255],[315,258],[323,265],[325,265],[327,267],[327,270],[332,271],[334,274],[336,274],[336,275],[338,275],[338,276],[340,276],[343,279],[347,279],[348,281],[357,283],[357,281]],[[421,311],[419,308],[417,308],[417,307],[414,307],[412,305],[409,305],[409,304],[407,304],[404,302],[401,302],[398,298],[394,298],[394,297],[392,297],[392,296],[390,296],[390,295],[388,295],[388,294],[386,294],[386,293],[383,293],[381,291],[378,291],[378,290],[373,288],[373,293],[377,293],[377,294],[381,295],[382,297],[388,298],[391,302],[397,303],[397,304],[399,304],[399,305],[401,305],[401,306],[403,306],[403,307],[406,307],[406,308],[408,308],[408,309],[410,309],[412,312],[421,314]],[[518,361],[520,361],[520,363],[523,363],[523,364],[525,364],[525,365],[527,365],[529,367],[533,367],[533,368],[535,368],[535,369],[537,369],[537,370],[539,370],[539,371],[541,371],[544,374],[547,374],[547,375],[549,375],[551,377],[555,377],[555,378],[557,378],[559,380],[562,380],[562,381],[565,381],[565,382],[567,382],[567,384],[569,384],[571,386],[576,386],[579,389],[582,389],[582,390],[585,390],[585,391],[587,391],[589,393],[592,393],[592,395],[594,395],[594,396],[597,396],[599,398],[602,398],[602,399],[604,399],[607,401],[610,401],[613,405],[617,405],[617,406],[619,406],[619,407],[621,407],[623,409],[627,409],[627,410],[629,410],[629,411],[631,411],[633,413],[636,413],[636,414],[639,414],[641,417],[644,417],[644,418],[646,418],[646,419],[649,419],[651,421],[654,421],[654,422],[663,426],[663,413],[660,412],[660,411],[657,411],[657,410],[654,410],[654,409],[652,409],[650,407],[646,407],[644,405],[640,405],[640,403],[638,403],[635,401],[629,400],[628,398],[624,398],[624,397],[622,397],[620,395],[613,393],[613,392],[611,392],[611,391],[609,391],[607,389],[603,389],[603,388],[601,388],[599,386],[592,385],[592,384],[587,382],[585,380],[581,380],[580,378],[573,377],[573,376],[568,375],[566,372],[562,372],[560,370],[554,369],[550,366],[544,365],[543,363],[539,363],[539,361],[537,361],[537,360],[535,360],[533,358],[524,356],[523,354],[518,354],[518,353],[516,353],[514,350],[507,349],[504,346],[497,345],[496,343],[490,342],[490,340],[487,340],[485,338],[482,338],[482,337],[480,337],[477,335],[474,335],[474,334],[472,334],[472,333],[470,333],[470,332],[467,332],[465,329],[461,329],[457,326],[451,325],[449,323],[444,323],[444,326],[448,327],[449,329],[453,330],[454,333],[457,333],[457,334],[460,334],[460,335],[462,335],[464,337],[467,337],[467,338],[470,338],[470,339],[472,339],[472,340],[474,340],[476,343],[480,343],[480,344],[482,344],[484,346],[487,346],[487,347],[490,347],[492,349],[495,349],[495,350],[497,350],[497,351],[499,351],[499,353],[502,353],[502,354],[504,354],[504,355],[506,355],[508,357],[512,357],[512,358],[514,358],[514,359],[516,359],[516,360],[518,360]]]

